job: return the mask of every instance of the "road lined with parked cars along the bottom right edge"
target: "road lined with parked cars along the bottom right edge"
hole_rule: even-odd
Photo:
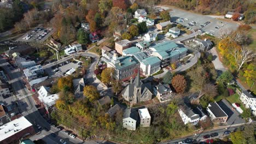
[[[207,139],[203,139],[203,136],[204,135],[210,135],[212,133],[218,133],[219,135],[216,136],[216,137],[212,137],[210,139],[216,139],[216,138],[222,138],[224,135],[224,131],[226,130],[229,130],[229,131],[234,131],[236,128],[240,128],[241,125],[234,125],[232,127],[225,127],[225,128],[220,128],[220,129],[215,129],[215,130],[208,130],[208,131],[203,131],[202,133],[200,134],[196,134],[196,135],[189,135],[189,136],[185,136],[185,137],[182,137],[181,139],[175,139],[175,140],[170,140],[170,141],[166,141],[166,142],[161,142],[161,144],[171,144],[171,143],[176,143],[176,142],[180,142],[180,141],[183,141],[185,139],[194,139],[195,141],[197,142],[200,142],[200,141],[204,141],[204,140],[207,140]]]

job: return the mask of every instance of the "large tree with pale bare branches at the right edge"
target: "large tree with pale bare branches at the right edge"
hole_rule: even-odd
[[[236,49],[232,55],[235,57],[236,64],[238,66],[238,71],[242,68],[243,64],[251,62],[256,57],[256,53],[247,47],[241,47],[241,49]]]

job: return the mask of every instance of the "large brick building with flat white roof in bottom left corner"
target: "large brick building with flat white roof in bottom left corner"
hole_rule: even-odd
[[[34,133],[33,125],[24,116],[21,116],[0,127],[0,143],[19,143],[22,137],[27,137]]]

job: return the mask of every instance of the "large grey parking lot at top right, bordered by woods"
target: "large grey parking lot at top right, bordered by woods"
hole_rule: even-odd
[[[188,11],[172,9],[170,11],[171,21],[182,24],[190,29],[201,29],[203,32],[219,36],[224,30],[235,30],[238,25],[236,23],[220,21],[210,16],[189,13]]]

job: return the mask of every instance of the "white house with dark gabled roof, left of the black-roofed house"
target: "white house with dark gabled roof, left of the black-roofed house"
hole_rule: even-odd
[[[191,110],[186,104],[179,106],[178,112],[184,124],[191,123],[196,125],[200,120],[200,115],[194,113],[194,111]]]

